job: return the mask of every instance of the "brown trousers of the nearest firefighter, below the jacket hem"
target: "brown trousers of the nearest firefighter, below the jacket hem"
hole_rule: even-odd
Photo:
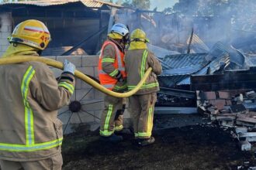
[[[0,160],[2,170],[61,170],[62,164],[61,152],[53,157],[33,162]]]

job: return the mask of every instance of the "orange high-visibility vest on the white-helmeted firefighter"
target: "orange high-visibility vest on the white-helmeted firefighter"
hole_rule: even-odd
[[[115,51],[115,56],[104,56],[104,50],[108,48],[112,48],[113,51]],[[126,71],[124,66],[124,53],[119,50],[119,48],[116,46],[116,44],[110,40],[106,40],[102,46],[101,54],[99,56],[99,66],[98,66],[98,72],[99,72],[99,81],[102,84],[102,86],[106,87],[109,90],[124,90],[126,89],[126,85],[122,84],[117,86],[117,79],[115,76],[120,71],[123,78],[126,77]],[[104,71],[104,66],[102,66],[102,63],[111,63],[113,66],[113,71],[111,73],[106,73]]]

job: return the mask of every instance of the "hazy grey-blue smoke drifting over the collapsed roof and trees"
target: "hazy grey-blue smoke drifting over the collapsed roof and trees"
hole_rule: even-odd
[[[256,50],[254,0],[179,0],[173,11],[165,15],[124,9],[117,12],[116,22],[130,26],[131,31],[144,29],[151,44],[179,53],[186,53],[192,28],[209,48],[221,41],[244,53]],[[197,42],[202,45],[201,40]]]

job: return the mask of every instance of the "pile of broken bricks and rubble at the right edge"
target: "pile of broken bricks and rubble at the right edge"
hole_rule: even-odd
[[[199,113],[208,114],[211,121],[231,132],[240,141],[242,151],[250,151],[256,141],[256,93],[250,91],[196,91]],[[250,131],[250,132],[248,132]]]

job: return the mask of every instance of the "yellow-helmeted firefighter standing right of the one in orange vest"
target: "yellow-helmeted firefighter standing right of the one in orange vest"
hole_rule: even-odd
[[[141,29],[135,29],[131,34],[130,48],[125,56],[127,87],[133,90],[144,77],[144,73],[152,67],[152,73],[147,81],[132,97],[129,97],[129,106],[133,117],[133,129],[137,145],[145,146],[154,143],[151,136],[153,128],[154,104],[157,100],[159,84],[157,76],[161,74],[161,63],[147,49],[149,40]]]

